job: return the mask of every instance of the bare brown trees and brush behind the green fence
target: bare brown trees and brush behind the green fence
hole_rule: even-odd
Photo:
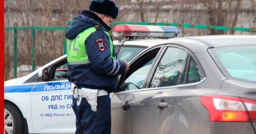
[[[246,27],[256,27],[255,0],[113,0],[119,6],[116,21],[188,23],[213,26],[241,26],[241,18],[250,16]],[[246,6],[246,4],[250,4]],[[67,21],[87,10],[90,0],[5,0],[5,27],[67,26]],[[111,26],[112,28],[114,26]],[[179,27],[179,35],[237,34],[235,31]],[[43,66],[63,54],[65,30],[35,31],[35,46],[31,29],[17,31],[17,66],[30,71],[32,48],[35,66]],[[245,34],[256,34],[246,32]],[[13,75],[13,30],[5,30],[5,80]],[[25,74],[19,74],[23,76]]]

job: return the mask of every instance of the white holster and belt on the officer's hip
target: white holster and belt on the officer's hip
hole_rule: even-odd
[[[87,100],[87,102],[91,105],[93,111],[97,111],[97,96],[108,95],[108,92],[105,90],[98,89],[89,89],[89,88],[77,88],[75,84],[71,84],[71,91],[73,92],[73,96],[77,100],[77,105],[81,104],[82,97]]]

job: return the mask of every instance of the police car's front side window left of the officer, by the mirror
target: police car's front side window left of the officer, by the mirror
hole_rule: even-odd
[[[55,67],[53,79],[66,79],[67,78],[67,63],[64,62],[61,65]]]

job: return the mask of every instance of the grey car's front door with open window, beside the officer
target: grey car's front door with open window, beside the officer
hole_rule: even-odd
[[[151,65],[155,62],[155,57],[162,50],[160,47],[145,52],[145,56],[138,57],[131,63],[129,71],[120,77],[119,88],[111,97],[111,132],[112,134],[131,134],[131,120],[133,105],[145,87]]]

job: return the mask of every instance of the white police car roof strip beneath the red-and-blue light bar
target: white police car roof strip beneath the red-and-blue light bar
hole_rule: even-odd
[[[132,40],[125,40],[125,41],[114,40],[113,44],[150,47],[150,46],[154,46],[154,44],[156,43],[160,43],[163,40],[166,40],[166,39],[132,39]]]

